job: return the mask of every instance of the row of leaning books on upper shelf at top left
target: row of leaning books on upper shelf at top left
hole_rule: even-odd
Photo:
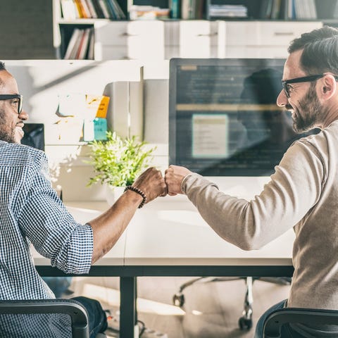
[[[117,0],[61,0],[63,18],[125,19]]]

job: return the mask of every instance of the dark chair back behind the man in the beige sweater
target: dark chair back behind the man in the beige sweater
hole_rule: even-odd
[[[280,308],[265,319],[263,337],[283,338],[282,325],[302,323],[305,325],[338,325],[337,310],[320,310],[315,308]]]

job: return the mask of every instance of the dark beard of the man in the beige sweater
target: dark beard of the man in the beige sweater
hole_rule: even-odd
[[[323,116],[323,107],[315,92],[315,85],[311,84],[306,95],[299,101],[299,108],[294,109],[294,131],[301,134],[313,129],[318,124],[320,115]]]

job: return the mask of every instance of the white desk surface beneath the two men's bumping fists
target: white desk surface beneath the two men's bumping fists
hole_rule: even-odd
[[[67,203],[86,223],[108,208],[104,202]],[[294,232],[260,250],[243,251],[220,238],[185,196],[159,198],[137,210],[127,230],[95,265],[292,265]],[[36,265],[50,265],[32,249]]]

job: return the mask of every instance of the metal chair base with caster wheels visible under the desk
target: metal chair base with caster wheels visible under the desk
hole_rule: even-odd
[[[244,280],[246,283],[246,292],[244,296],[244,310],[242,317],[238,320],[238,325],[241,330],[250,330],[252,327],[252,304],[253,294],[252,287],[255,280],[263,280],[265,282],[272,282],[275,284],[289,285],[291,284],[291,277],[197,277],[194,280],[189,280],[180,286],[179,291],[173,296],[173,304],[182,307],[185,299],[182,293],[184,289],[196,282],[225,282],[229,280]]]

